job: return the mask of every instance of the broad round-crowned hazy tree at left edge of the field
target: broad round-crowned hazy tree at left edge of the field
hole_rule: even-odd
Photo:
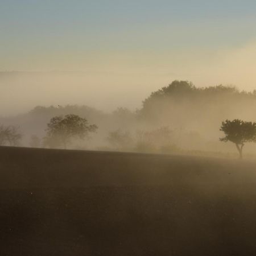
[[[88,125],[85,118],[75,114],[53,117],[47,127],[44,144],[49,147],[63,145],[64,148],[67,148],[72,139],[85,139],[89,133],[97,129],[96,125]]]

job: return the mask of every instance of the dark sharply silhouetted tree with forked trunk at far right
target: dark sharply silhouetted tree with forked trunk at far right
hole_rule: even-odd
[[[225,137],[220,138],[220,141],[235,143],[240,158],[245,143],[256,141],[256,123],[244,122],[240,119],[226,120],[222,122],[220,130],[225,133]]]

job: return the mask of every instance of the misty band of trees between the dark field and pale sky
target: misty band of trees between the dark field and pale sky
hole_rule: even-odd
[[[253,123],[254,109],[255,90],[239,91],[235,86],[224,85],[199,88],[192,82],[173,81],[152,92],[135,111],[121,106],[106,113],[87,105],[56,105],[35,106],[28,113],[1,117],[0,143],[236,157],[237,152],[242,156],[245,142],[255,142],[255,126],[250,138],[241,141],[223,137],[227,132],[223,123],[229,120]],[[243,136],[246,127],[239,129],[241,123],[233,132]],[[255,157],[256,143],[248,143],[244,151],[245,156]]]

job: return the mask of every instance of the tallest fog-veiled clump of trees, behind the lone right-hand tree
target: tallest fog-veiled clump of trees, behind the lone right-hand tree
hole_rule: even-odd
[[[159,126],[170,126],[172,129],[182,127],[199,132],[209,141],[216,141],[222,121],[233,117],[254,120],[255,112],[255,90],[245,92],[224,85],[200,88],[192,82],[173,81],[152,92],[143,101],[137,115],[148,124],[159,123]],[[218,150],[221,150],[220,147]]]

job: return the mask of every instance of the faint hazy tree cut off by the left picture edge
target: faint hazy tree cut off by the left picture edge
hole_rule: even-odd
[[[18,132],[15,126],[0,126],[0,145],[18,146],[22,134]]]

